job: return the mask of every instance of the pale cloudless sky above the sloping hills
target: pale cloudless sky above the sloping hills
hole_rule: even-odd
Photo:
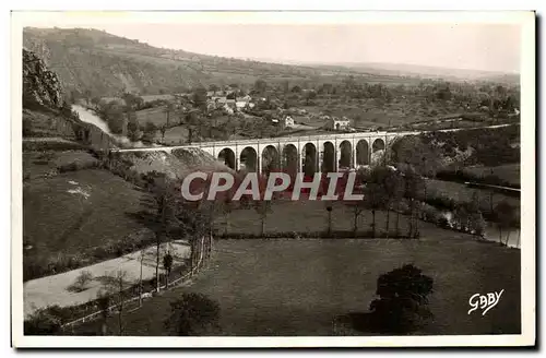
[[[407,63],[520,72],[517,24],[102,24],[156,47],[309,63]]]

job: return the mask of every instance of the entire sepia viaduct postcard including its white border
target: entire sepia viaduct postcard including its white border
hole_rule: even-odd
[[[12,345],[535,345],[535,13],[11,16]]]

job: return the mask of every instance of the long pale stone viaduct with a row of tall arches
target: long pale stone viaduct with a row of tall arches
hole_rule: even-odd
[[[200,142],[178,146],[139,147],[115,152],[171,153],[200,148],[232,169],[266,172],[287,169],[312,174],[369,165],[375,153],[385,153],[399,136],[418,132],[357,132],[309,136],[282,136],[236,141]]]

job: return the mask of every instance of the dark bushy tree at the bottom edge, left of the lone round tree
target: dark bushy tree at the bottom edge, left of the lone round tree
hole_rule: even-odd
[[[165,327],[179,336],[205,335],[218,327],[219,305],[197,293],[183,293],[170,302],[170,315]]]

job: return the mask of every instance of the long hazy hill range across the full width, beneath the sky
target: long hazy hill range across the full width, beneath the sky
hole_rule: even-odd
[[[495,80],[518,83],[519,75],[390,63],[272,63],[156,48],[90,28],[23,31],[23,45],[43,58],[66,93],[91,91],[95,96],[185,92],[195,85],[269,82],[339,82],[347,75],[393,83],[405,77]]]

